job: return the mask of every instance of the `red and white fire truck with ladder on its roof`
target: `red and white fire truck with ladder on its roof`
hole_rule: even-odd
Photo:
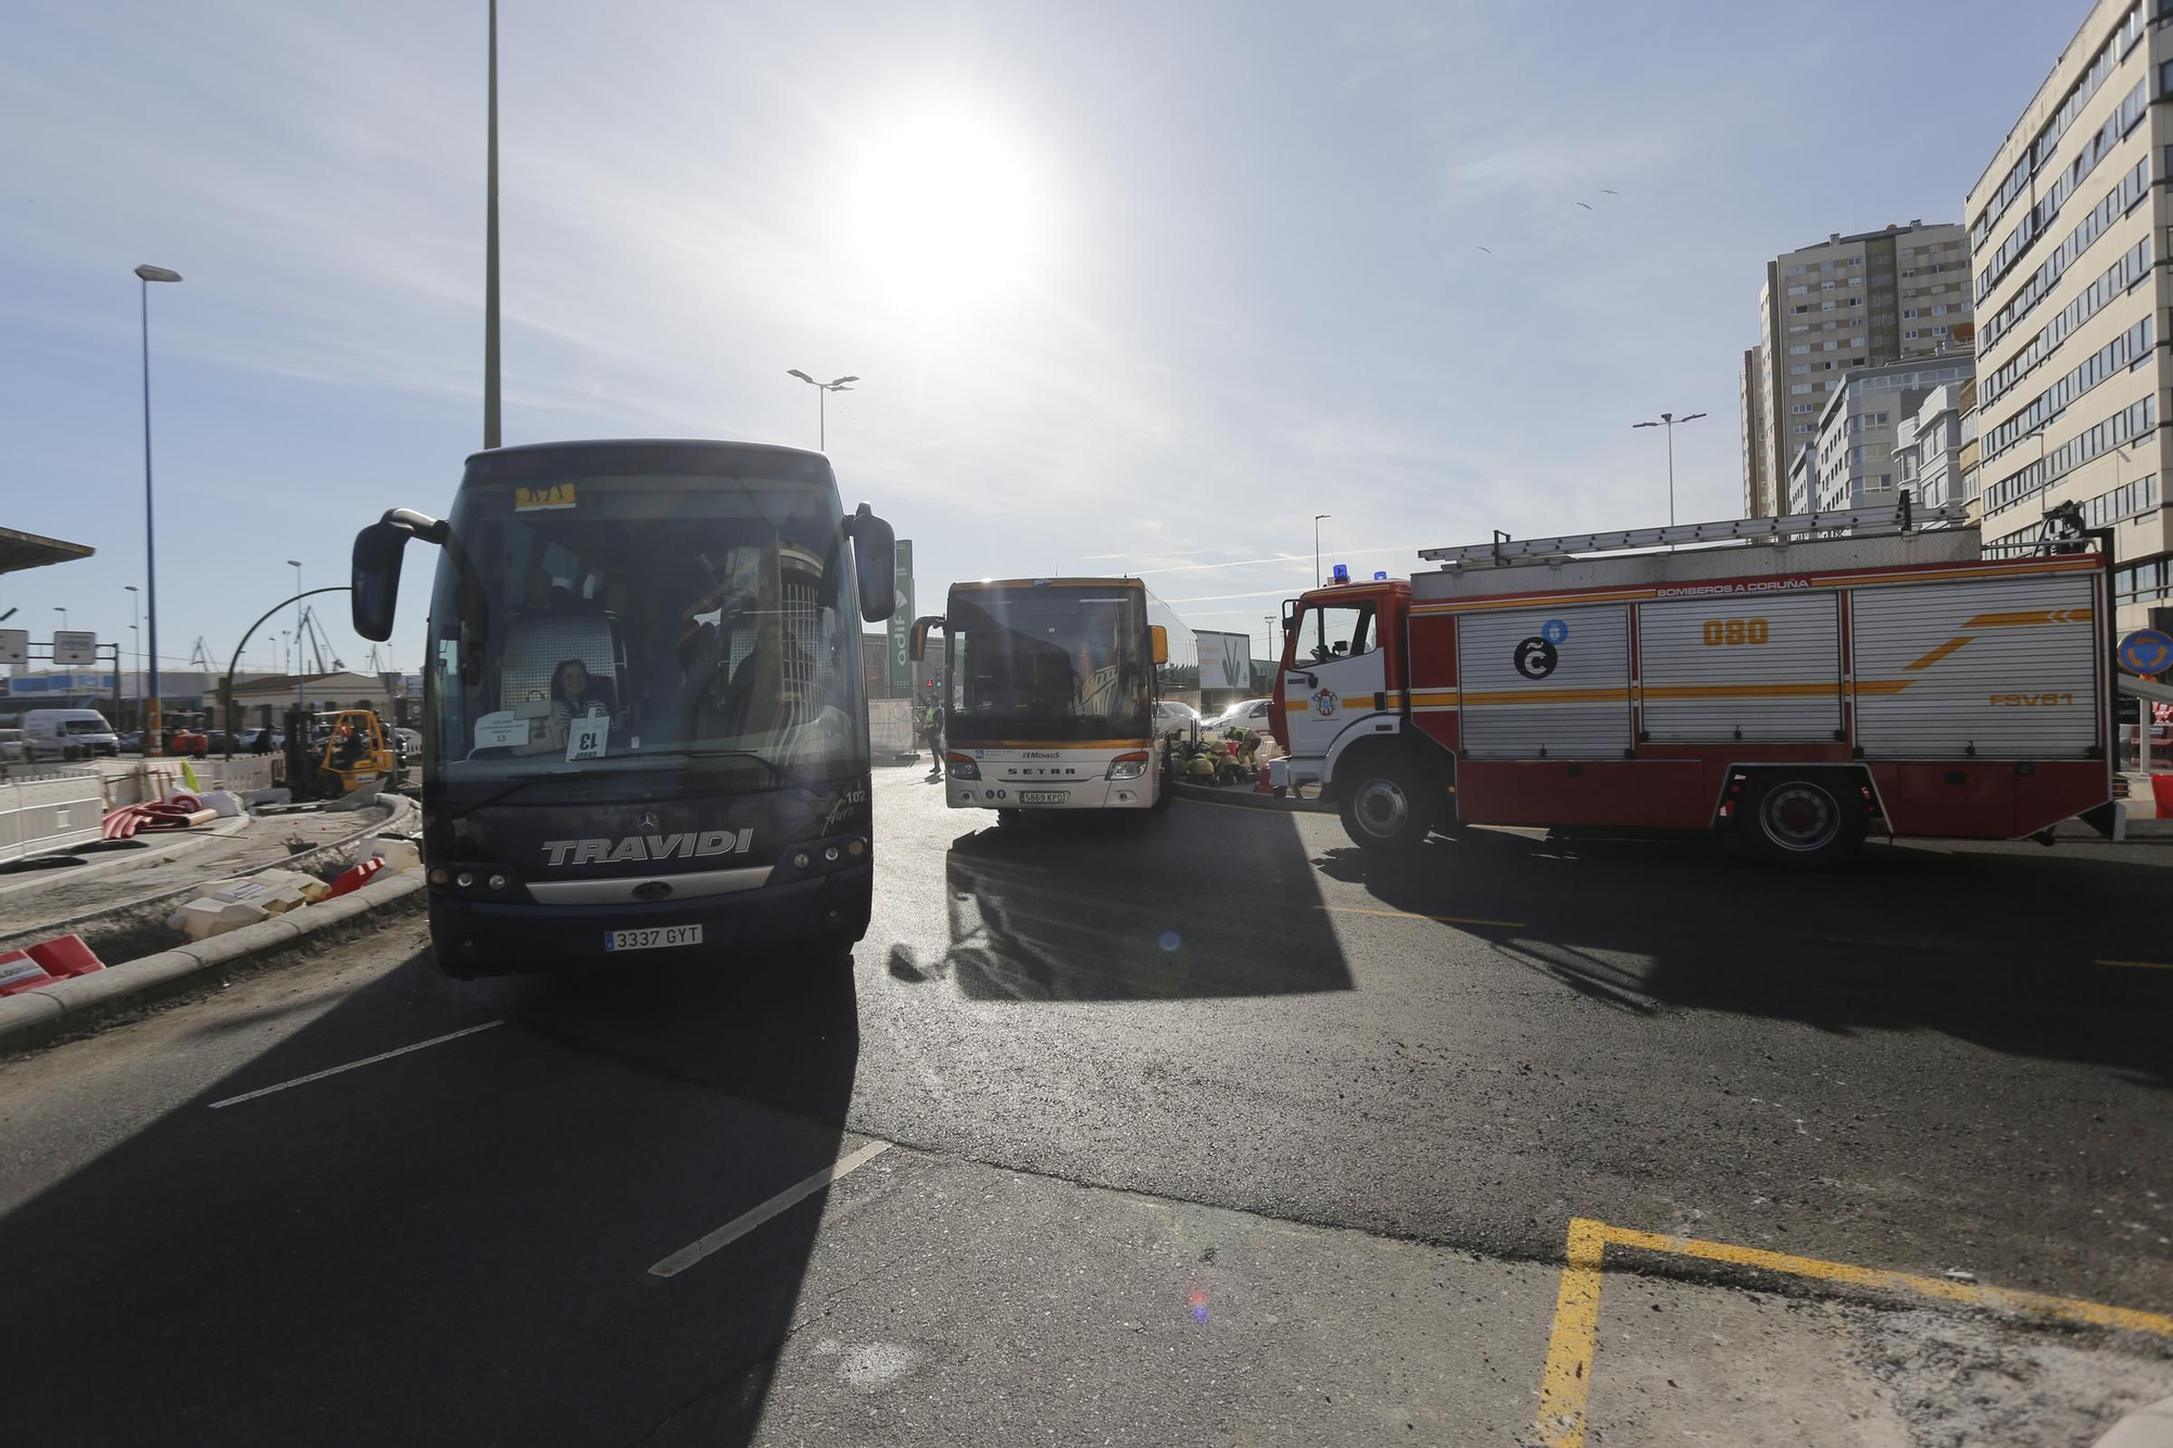
[[[1371,850],[1736,828],[1823,865],[1871,831],[2112,835],[2103,539],[1986,559],[1962,524],[1904,500],[1339,567],[1284,604],[1271,781],[1319,785]]]

